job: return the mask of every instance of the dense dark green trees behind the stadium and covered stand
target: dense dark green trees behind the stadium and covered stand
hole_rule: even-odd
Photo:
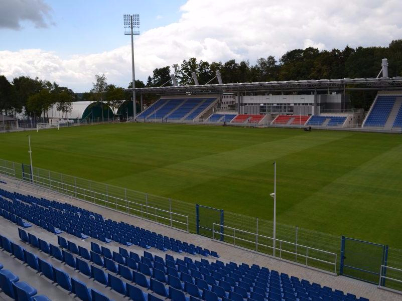
[[[155,69],[146,83],[136,80],[136,87],[161,86],[170,80],[171,73],[175,74],[179,84],[194,84],[191,79],[194,71],[199,83],[205,84],[215,76],[216,70],[220,70],[224,83],[376,77],[382,58],[388,59],[389,77],[402,76],[402,39],[392,41],[388,47],[354,49],[346,46],[343,50],[331,51],[320,51],[312,47],[295,49],[288,51],[279,60],[273,56],[259,58],[254,65],[248,60],[209,63],[190,58],[181,64]],[[125,92],[122,87],[108,84],[104,75],[96,75],[95,79],[91,91],[73,93],[68,87],[60,87],[45,79],[20,76],[10,82],[0,75],[0,110],[15,116],[25,107],[27,116],[40,116],[41,112],[57,103],[57,109],[64,114],[71,111],[71,103],[77,100],[102,101],[116,107],[123,100],[130,99],[130,93]],[[210,83],[217,83],[217,80]],[[127,87],[130,88],[131,83]],[[367,108],[374,94],[375,92],[353,92],[352,105]],[[149,104],[156,97],[144,95],[144,101]]]

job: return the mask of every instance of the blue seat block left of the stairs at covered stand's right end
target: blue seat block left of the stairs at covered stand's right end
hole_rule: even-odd
[[[395,103],[396,96],[378,95],[364,126],[384,126]]]

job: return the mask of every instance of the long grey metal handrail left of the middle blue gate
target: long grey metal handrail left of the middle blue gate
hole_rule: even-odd
[[[162,218],[162,219],[165,219],[165,220],[170,221],[170,227],[173,227],[173,223],[182,224],[182,225],[185,225],[186,231],[189,231],[189,223],[188,223],[188,216],[187,216],[187,215],[183,215],[183,214],[179,214],[179,213],[176,213],[176,212],[173,212],[173,211],[168,211],[168,210],[156,208],[156,207],[149,206],[149,205],[144,205],[144,204],[132,202],[132,201],[125,200],[125,199],[121,199],[121,198],[118,198],[118,197],[115,197],[115,196],[111,196],[111,195],[108,195],[108,194],[103,194],[103,193],[96,192],[96,191],[93,191],[93,190],[89,190],[89,189],[86,189],[86,188],[81,188],[81,187],[79,187],[79,186],[74,186],[74,185],[71,185],[71,184],[67,184],[67,183],[63,183],[63,182],[51,180],[50,178],[40,177],[40,176],[37,176],[37,175],[35,175],[35,174],[32,175],[31,173],[27,173],[27,172],[23,172],[23,175],[29,176],[29,177],[32,176],[32,177],[33,177],[33,182],[34,182],[34,184],[41,184],[41,185],[43,185],[43,186],[45,186],[45,187],[49,187],[49,189],[55,188],[56,190],[62,190],[62,191],[64,191],[64,192],[69,192],[69,193],[72,193],[72,194],[75,195],[75,196],[77,196],[77,195],[83,196],[83,197],[84,197],[84,200],[86,200],[86,197],[89,197],[89,198],[91,198],[91,199],[94,200],[94,203],[95,203],[95,200],[100,201],[100,202],[104,202],[104,205],[105,205],[104,207],[106,207],[106,203],[107,203],[107,204],[115,205],[116,210],[117,210],[117,207],[121,207],[121,208],[127,209],[127,211],[133,210],[133,211],[136,211],[136,212],[141,212],[141,217],[144,217],[145,214],[146,214],[146,215],[155,216],[155,221],[157,221],[158,218]],[[44,182],[44,181],[39,181],[38,179],[48,180],[49,183]],[[52,185],[52,183],[53,183],[53,185]],[[59,186],[56,186],[56,185],[54,185],[54,184],[61,184],[61,185],[65,186],[65,187],[59,187]],[[69,189],[67,189],[66,187],[75,188],[75,190],[69,190]],[[77,191],[77,188],[78,188],[79,190],[84,191],[84,194],[78,192],[78,191]],[[86,195],[85,192],[88,192],[89,195]],[[91,195],[91,194],[93,194],[93,195]],[[96,194],[101,195],[101,196],[104,196],[105,198],[104,198],[104,199],[99,199],[99,198],[95,197]],[[115,202],[113,203],[113,202],[108,201],[109,198],[113,198],[113,199],[115,200]],[[118,201],[121,201],[121,202],[125,202],[125,203],[127,203],[127,205],[128,205],[128,203],[129,203],[129,204],[132,204],[132,205],[140,206],[140,207],[141,207],[141,210],[140,210],[140,209],[136,209],[136,208],[132,208],[132,207],[129,207],[129,206],[124,206],[124,205],[122,205],[122,204],[118,204],[118,203],[117,203],[117,200],[118,200]],[[147,211],[144,211],[143,209],[147,209]],[[155,213],[148,212],[149,209],[155,210]],[[165,217],[165,216],[162,216],[162,215],[158,215],[158,211],[159,211],[159,212],[162,212],[162,213],[168,214],[169,217]],[[172,217],[173,215],[174,215],[174,216],[177,216],[177,217],[182,217],[182,218],[184,218],[184,219],[185,219],[185,222],[182,222],[182,221],[173,219],[173,217]]]

